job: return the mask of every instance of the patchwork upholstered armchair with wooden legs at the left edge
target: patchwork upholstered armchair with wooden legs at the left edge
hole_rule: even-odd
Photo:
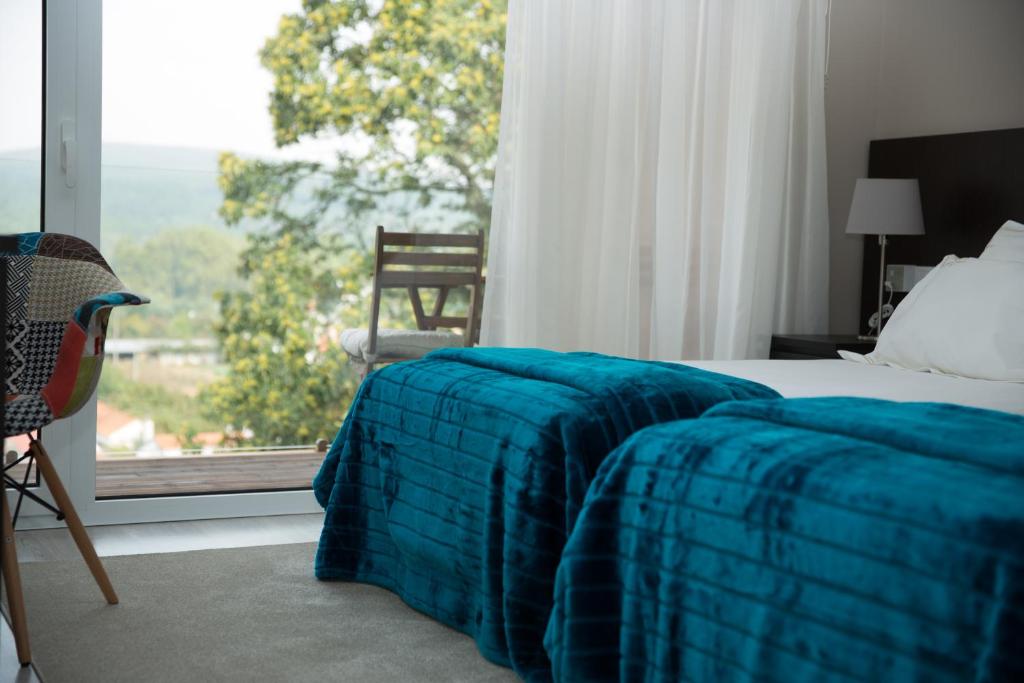
[[[22,497],[28,497],[65,519],[103,596],[118,601],[92,542],[57,475],[39,430],[78,412],[96,388],[103,362],[106,322],[115,306],[139,305],[144,299],[126,291],[103,257],[84,240],[52,232],[0,237],[0,310],[6,311],[5,411],[3,434],[29,435],[29,450],[3,465],[0,507],[3,524],[3,578],[17,646],[18,660],[31,659],[25,603],[14,548],[14,523]],[[5,273],[4,273],[5,271]],[[88,454],[92,457],[92,453]],[[25,477],[10,475],[27,464]],[[33,464],[53,498],[49,503],[28,487]],[[3,494],[18,492],[13,518]]]

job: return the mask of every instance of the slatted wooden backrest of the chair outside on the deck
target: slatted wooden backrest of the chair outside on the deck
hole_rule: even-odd
[[[407,248],[388,250],[388,247]],[[408,248],[450,248],[462,251],[409,251]],[[472,251],[467,251],[472,250]],[[381,292],[401,288],[409,291],[416,324],[420,330],[461,328],[465,345],[472,346],[479,329],[483,271],[483,231],[475,234],[434,232],[387,232],[377,227],[374,262],[374,292],[370,317],[369,351],[377,352],[377,331]],[[389,266],[410,266],[394,268]],[[433,269],[421,269],[433,268]],[[453,288],[469,288],[469,311],[466,315],[444,315],[444,303]],[[423,309],[420,288],[436,289],[437,298],[428,315]]]

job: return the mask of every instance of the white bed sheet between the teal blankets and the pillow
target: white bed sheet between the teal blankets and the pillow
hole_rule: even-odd
[[[785,398],[866,396],[939,401],[1024,415],[1024,383],[990,382],[842,359],[686,360],[688,366],[759,382]]]

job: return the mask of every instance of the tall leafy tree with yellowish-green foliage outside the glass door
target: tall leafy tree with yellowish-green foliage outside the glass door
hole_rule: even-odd
[[[335,163],[220,158],[220,215],[247,236],[246,292],[225,296],[227,376],[203,399],[253,443],[333,435],[355,380],[337,335],[369,314],[371,218],[396,198],[486,228],[498,144],[505,0],[304,0],[260,52],[280,146],[337,141]],[[403,225],[408,227],[408,223]],[[406,327],[407,302],[382,324]]]

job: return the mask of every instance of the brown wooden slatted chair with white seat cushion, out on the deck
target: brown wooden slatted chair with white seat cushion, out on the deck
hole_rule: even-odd
[[[345,330],[342,346],[360,379],[374,366],[413,360],[429,351],[452,346],[472,346],[479,341],[483,304],[483,231],[475,234],[388,232],[377,227],[374,290],[369,330]],[[445,315],[453,290],[469,289],[466,315]],[[382,330],[379,327],[384,290],[409,294],[417,330]],[[437,291],[428,312],[421,290]],[[440,332],[440,329],[462,330]]]

